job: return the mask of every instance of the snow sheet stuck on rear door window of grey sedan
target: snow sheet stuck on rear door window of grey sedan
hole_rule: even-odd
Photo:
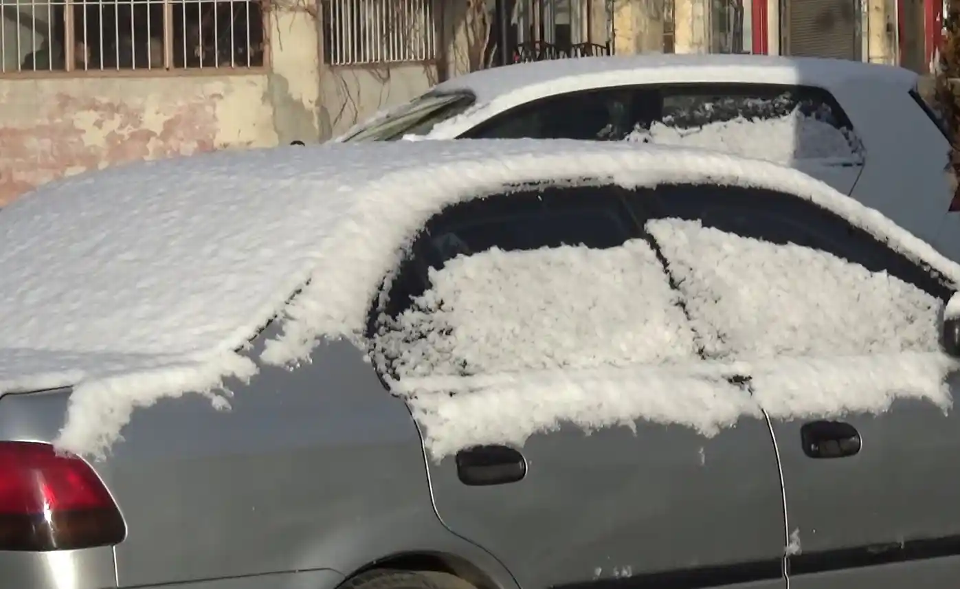
[[[451,259],[430,280],[378,341],[403,376],[625,366],[696,352],[642,240],[607,250],[493,249]]]

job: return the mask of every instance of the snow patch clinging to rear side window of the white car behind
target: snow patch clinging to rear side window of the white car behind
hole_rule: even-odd
[[[858,139],[815,116],[793,110],[767,119],[738,116],[684,128],[655,122],[637,129],[627,141],[714,149],[757,160],[790,163],[795,160],[855,161],[862,158]]]

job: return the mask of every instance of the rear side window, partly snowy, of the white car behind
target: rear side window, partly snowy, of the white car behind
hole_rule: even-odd
[[[830,93],[812,86],[658,86],[659,115],[629,140],[716,149],[767,160],[860,162],[863,147]]]

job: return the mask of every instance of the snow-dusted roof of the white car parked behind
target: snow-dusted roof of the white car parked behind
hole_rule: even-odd
[[[478,103],[516,92],[551,86],[562,91],[590,87],[696,82],[807,85],[829,88],[851,82],[898,86],[917,84],[918,76],[901,67],[850,60],[755,55],[633,55],[516,63],[458,76],[435,86],[436,92],[469,91]]]

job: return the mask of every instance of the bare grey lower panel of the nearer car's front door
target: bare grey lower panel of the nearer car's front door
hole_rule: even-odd
[[[955,398],[960,376],[949,382]],[[952,586],[960,577],[960,557],[950,555],[960,547],[960,471],[947,465],[960,454],[960,413],[900,399],[879,415],[836,419],[859,432],[858,454],[810,458],[800,435],[807,420],[771,420],[788,526],[800,544],[791,587]],[[887,576],[877,563],[890,560],[908,562]]]

